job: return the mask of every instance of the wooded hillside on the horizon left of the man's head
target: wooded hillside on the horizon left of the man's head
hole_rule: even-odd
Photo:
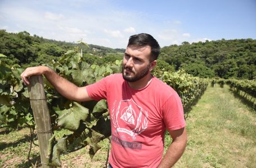
[[[120,56],[120,53],[123,54],[125,51],[125,49],[111,49],[93,44],[89,44],[88,48],[78,43],[44,39],[37,35],[31,36],[26,31],[10,33],[0,30],[0,53],[7,56],[7,58],[1,58],[1,60],[9,64],[31,64],[35,66],[47,63],[52,59],[58,59],[58,57],[75,46],[82,47],[83,54],[100,57],[107,55]]]

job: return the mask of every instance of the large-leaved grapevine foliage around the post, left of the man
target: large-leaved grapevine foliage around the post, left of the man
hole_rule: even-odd
[[[1,57],[5,57],[5,55]],[[52,60],[48,66],[76,85],[86,86],[111,73],[120,72],[121,63],[116,60],[115,63],[101,67],[95,64],[89,65],[84,62],[84,57],[77,47],[65,53],[59,61]],[[15,129],[18,125],[25,123],[34,127],[28,89],[24,87],[20,79],[20,74],[24,69],[18,65],[8,66],[3,62],[0,62],[0,65],[1,127],[8,126],[10,129]],[[49,164],[60,166],[60,153],[66,151],[67,148],[64,144],[68,144],[68,142],[78,146],[89,144],[89,153],[93,157],[100,148],[97,143],[111,134],[106,101],[71,102],[59,95],[47,80],[44,83],[52,128],[61,127],[73,131],[72,134],[57,141],[54,138],[51,139],[49,151],[52,152],[48,157]]]

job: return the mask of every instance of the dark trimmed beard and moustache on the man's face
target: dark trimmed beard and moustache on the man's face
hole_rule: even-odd
[[[145,77],[150,71],[149,71],[149,68],[150,68],[150,64],[145,68],[145,69],[142,69],[142,71],[138,72],[137,74],[134,73],[132,71],[132,69],[129,69],[129,68],[125,68],[125,69],[128,69],[129,71],[131,71],[132,73],[134,73],[134,76],[127,76],[124,74],[124,65],[123,65],[123,68],[122,68],[122,74],[123,74],[123,78],[125,81],[127,82],[136,82],[138,80],[140,80],[141,78]]]

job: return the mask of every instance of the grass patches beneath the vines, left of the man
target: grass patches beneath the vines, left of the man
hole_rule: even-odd
[[[64,134],[70,134],[69,130],[55,131],[56,138],[61,138]],[[35,141],[38,144],[38,141]],[[61,155],[62,167],[104,167],[107,158],[108,139],[101,141],[101,149],[92,159],[89,157],[89,148],[84,147],[78,151]],[[30,146],[30,130],[23,128],[16,131],[7,132],[0,129],[0,167],[34,167],[41,162],[39,147],[34,146],[30,154],[31,161],[28,161]]]

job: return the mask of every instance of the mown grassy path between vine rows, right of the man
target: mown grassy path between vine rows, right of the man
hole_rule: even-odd
[[[256,167],[256,112],[208,87],[188,114],[188,143],[175,167]]]

